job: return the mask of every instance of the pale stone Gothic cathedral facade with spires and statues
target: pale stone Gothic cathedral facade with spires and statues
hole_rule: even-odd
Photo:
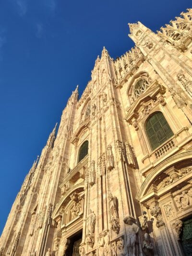
[[[18,193],[0,256],[192,255],[192,9],[97,57]]]

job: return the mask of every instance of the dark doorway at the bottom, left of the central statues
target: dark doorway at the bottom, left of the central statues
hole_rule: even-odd
[[[70,239],[70,244],[65,254],[67,256],[80,256],[79,246],[82,242],[82,231],[70,237],[69,239]]]

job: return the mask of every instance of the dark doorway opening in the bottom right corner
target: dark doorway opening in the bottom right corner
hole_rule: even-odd
[[[183,220],[181,244],[185,256],[192,256],[192,218]]]

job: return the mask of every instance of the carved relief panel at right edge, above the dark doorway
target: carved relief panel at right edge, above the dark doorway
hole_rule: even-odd
[[[177,207],[181,210],[192,205],[192,188],[182,191],[180,195],[174,197]]]

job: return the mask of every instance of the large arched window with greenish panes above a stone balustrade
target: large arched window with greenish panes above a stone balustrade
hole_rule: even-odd
[[[145,131],[153,150],[173,135],[168,122],[161,112],[156,112],[149,117]]]

